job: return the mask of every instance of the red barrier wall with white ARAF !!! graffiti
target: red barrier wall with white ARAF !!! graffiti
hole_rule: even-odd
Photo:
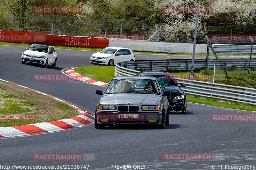
[[[108,47],[108,39],[102,38],[98,41],[96,37],[84,36],[65,36],[65,35],[50,35],[45,33],[33,33],[22,31],[0,30],[0,42],[12,43],[38,43],[58,46],[78,46],[78,47]]]

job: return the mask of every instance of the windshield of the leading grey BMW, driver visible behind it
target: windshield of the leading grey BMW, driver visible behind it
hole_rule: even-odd
[[[106,94],[110,93],[146,93],[159,94],[156,80],[150,79],[114,79],[112,80]]]

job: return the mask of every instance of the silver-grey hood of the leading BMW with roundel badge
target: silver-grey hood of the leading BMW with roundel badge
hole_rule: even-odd
[[[101,103],[103,105],[156,105],[159,98],[160,95],[156,94],[104,94]]]

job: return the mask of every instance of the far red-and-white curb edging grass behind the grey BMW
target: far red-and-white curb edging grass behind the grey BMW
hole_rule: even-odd
[[[76,69],[76,68],[78,68],[78,67],[75,67],[75,68],[72,68],[72,69],[68,69],[65,72],[69,76],[71,76],[73,78],[76,78],[78,80],[84,81],[86,83],[90,83],[90,84],[93,84],[93,85],[99,85],[99,86],[103,86],[103,87],[107,87],[108,86],[108,83],[104,83],[104,82],[101,82],[101,81],[93,80],[93,79],[88,78],[88,77],[84,77],[83,75],[81,75],[81,74],[77,73],[76,71],[74,71],[74,69]]]

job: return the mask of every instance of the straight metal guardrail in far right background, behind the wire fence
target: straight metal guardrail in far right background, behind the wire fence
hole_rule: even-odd
[[[212,44],[216,54],[251,54],[252,45]],[[256,45],[253,46],[252,54],[256,54]]]

